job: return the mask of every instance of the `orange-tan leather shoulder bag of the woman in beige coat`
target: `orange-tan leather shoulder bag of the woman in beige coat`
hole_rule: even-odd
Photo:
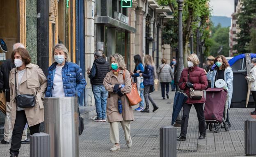
[[[123,71],[123,81],[125,80],[125,72]],[[129,93],[125,93],[126,97],[129,100],[129,105],[134,106],[139,104],[139,102],[142,101],[141,97],[139,96],[138,90],[137,90],[137,84],[133,82],[132,77],[130,76],[130,79],[132,81],[132,90]]]

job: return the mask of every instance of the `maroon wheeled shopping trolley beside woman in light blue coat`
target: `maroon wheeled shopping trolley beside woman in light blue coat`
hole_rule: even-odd
[[[229,124],[226,123],[224,117],[228,105],[227,98],[228,93],[223,88],[208,88],[206,90],[204,116],[210,131],[219,132],[221,128],[229,131]]]

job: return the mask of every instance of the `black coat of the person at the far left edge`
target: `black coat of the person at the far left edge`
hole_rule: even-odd
[[[9,86],[9,75],[11,69],[15,68],[14,63],[11,59],[7,59],[1,65],[0,70],[0,89],[3,89],[6,94],[6,101],[10,102],[10,86]]]

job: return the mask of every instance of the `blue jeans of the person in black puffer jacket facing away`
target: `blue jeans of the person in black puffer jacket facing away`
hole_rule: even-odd
[[[106,119],[107,94],[103,85],[92,85],[98,118]]]

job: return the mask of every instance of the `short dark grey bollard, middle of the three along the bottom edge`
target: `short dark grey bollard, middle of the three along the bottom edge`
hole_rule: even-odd
[[[177,157],[177,128],[162,126],[160,128],[160,157]]]

